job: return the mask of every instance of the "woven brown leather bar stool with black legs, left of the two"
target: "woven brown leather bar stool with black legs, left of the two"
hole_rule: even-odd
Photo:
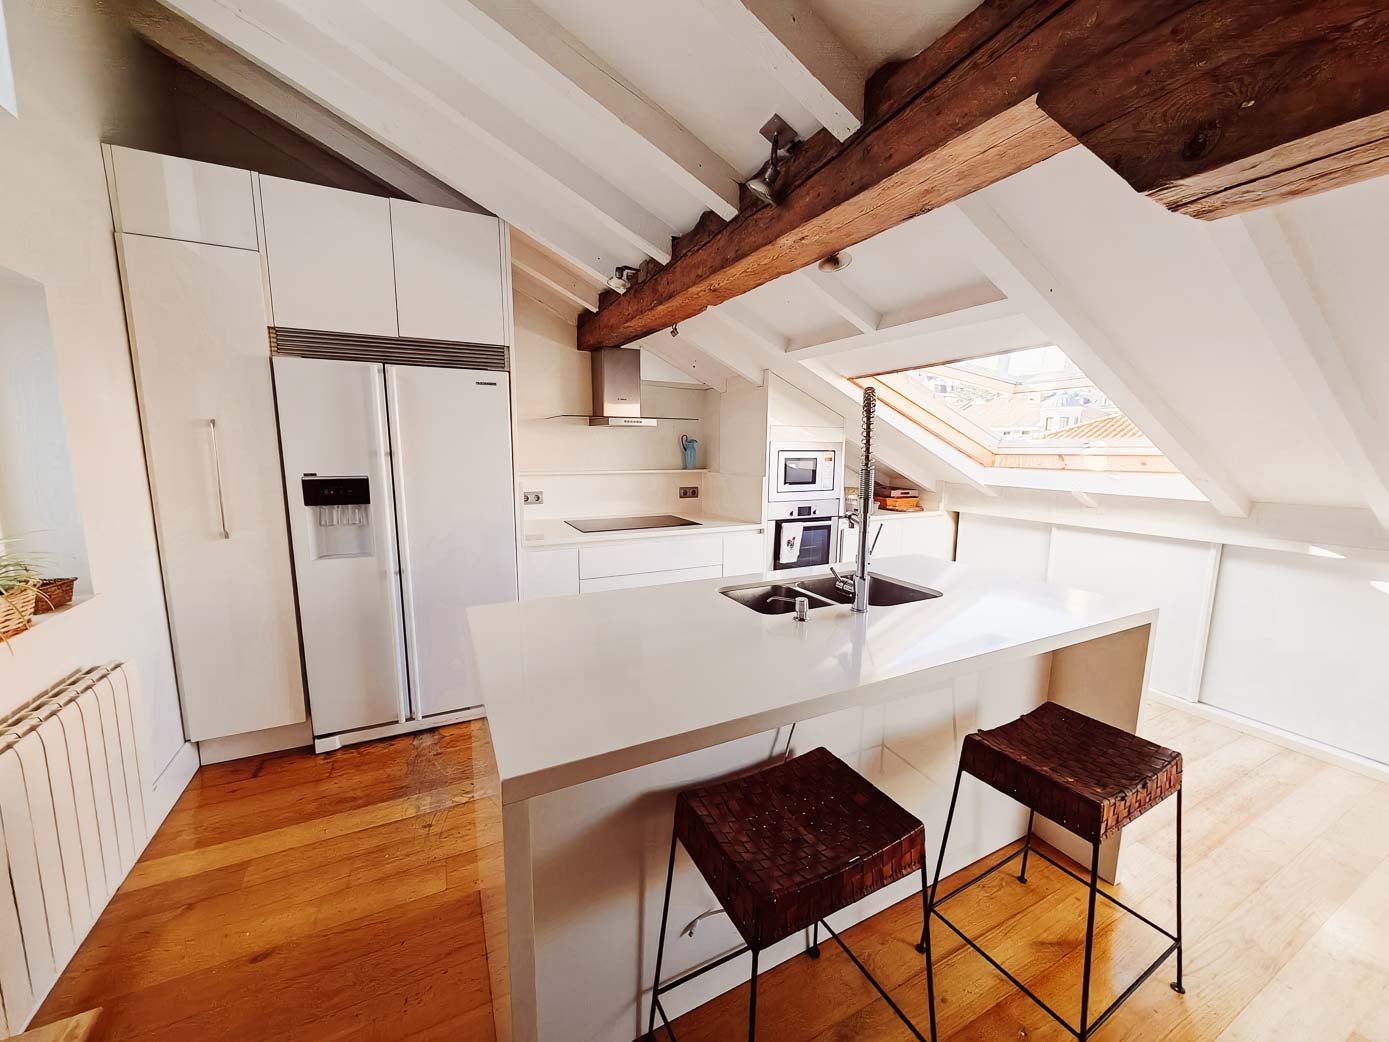
[[[753,979],[747,1004],[747,1038],[751,1042],[757,1036],[758,953],[782,938],[813,929],[807,953],[818,959],[820,927],[824,927],[911,1034],[925,1042],[897,1003],[825,923],[829,914],[918,870],[925,913],[925,834],[920,820],[828,749],[814,749],[740,778],[682,792],[675,800],[675,829],[665,874],[665,907],[661,911],[646,1036],[656,1038],[658,1013],[667,1034],[675,1039],[661,1009],[661,995],[751,952]],[[678,843],[685,845],[745,943],[736,952],[661,984]],[[929,952],[926,1000],[931,1038],[935,1039],[935,981]]]

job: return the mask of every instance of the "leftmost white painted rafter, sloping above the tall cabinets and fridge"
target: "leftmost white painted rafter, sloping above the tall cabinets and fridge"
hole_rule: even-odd
[[[571,215],[486,142],[460,147],[439,133],[438,113],[389,76],[354,60],[318,26],[274,0],[161,0],[172,11],[274,72],[311,100],[389,146],[432,176],[453,185],[536,240],[606,278],[636,253],[581,231]],[[608,236],[610,238],[610,236]]]

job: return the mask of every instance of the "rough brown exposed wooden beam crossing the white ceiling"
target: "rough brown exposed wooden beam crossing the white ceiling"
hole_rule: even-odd
[[[689,318],[1075,140],[1203,217],[1224,193],[1250,206],[1260,181],[1285,197],[1289,178],[1367,176],[1381,168],[1371,117],[1389,110],[1389,3],[990,0],[870,93],[871,121],[840,146],[807,143],[779,206],[676,247],[581,322],[581,346]]]

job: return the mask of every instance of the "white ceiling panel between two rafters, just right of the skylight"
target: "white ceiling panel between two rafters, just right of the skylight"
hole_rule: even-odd
[[[1133,193],[1085,149],[983,196],[1142,374],[1140,396],[1176,410],[1250,497],[1361,504],[1200,221]]]

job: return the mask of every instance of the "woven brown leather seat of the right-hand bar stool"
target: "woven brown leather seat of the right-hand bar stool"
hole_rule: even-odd
[[[965,774],[1089,841],[1113,835],[1182,785],[1182,754],[1043,702],[964,739]]]

